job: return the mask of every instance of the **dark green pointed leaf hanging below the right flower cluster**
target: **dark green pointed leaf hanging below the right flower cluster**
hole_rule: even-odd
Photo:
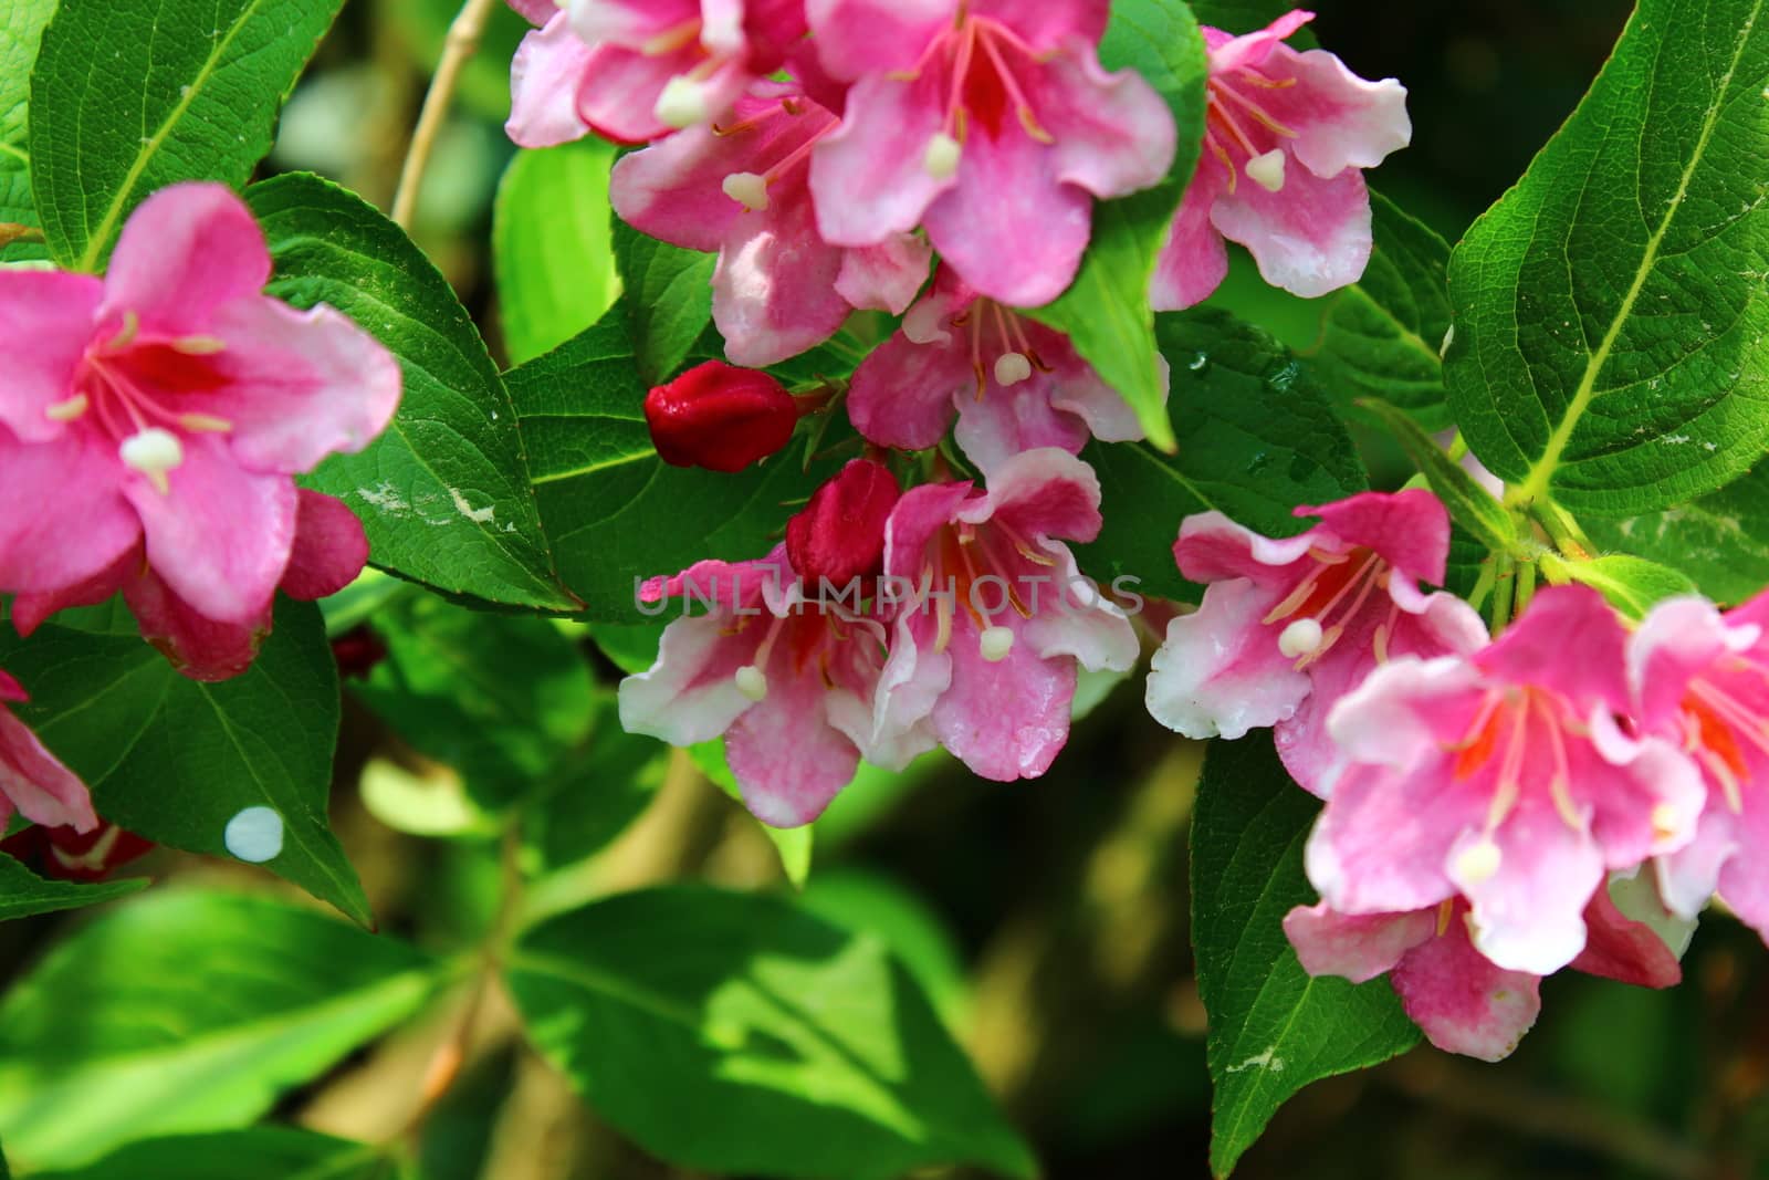
[[[1192,817],[1192,948],[1210,1015],[1219,1176],[1302,1086],[1419,1042],[1387,980],[1311,978],[1284,938],[1284,915],[1314,902],[1302,844],[1318,810],[1268,734],[1210,745]]]

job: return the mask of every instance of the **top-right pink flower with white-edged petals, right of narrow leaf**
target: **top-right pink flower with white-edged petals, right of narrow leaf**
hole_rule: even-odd
[[[1205,145],[1150,303],[1189,308],[1228,272],[1224,237],[1252,251],[1267,283],[1314,297],[1355,283],[1369,262],[1364,168],[1412,142],[1406,88],[1364,81],[1325,50],[1283,44],[1313,12],[1210,46]]]

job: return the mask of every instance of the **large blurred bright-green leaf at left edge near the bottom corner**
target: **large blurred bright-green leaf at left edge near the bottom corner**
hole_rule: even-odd
[[[412,1015],[437,975],[310,909],[150,893],[0,1001],[0,1134],[30,1168],[78,1168],[131,1139],[249,1123]]]

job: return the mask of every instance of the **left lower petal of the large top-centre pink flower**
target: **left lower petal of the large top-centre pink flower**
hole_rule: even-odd
[[[959,177],[936,180],[923,166],[927,142],[943,126],[936,103],[925,85],[884,74],[854,83],[842,124],[810,154],[810,191],[824,241],[877,246],[907,234],[934,198],[959,184]]]

